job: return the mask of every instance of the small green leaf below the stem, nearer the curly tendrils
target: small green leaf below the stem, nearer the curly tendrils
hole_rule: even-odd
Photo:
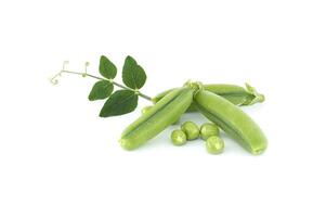
[[[95,82],[93,86],[90,94],[89,94],[89,100],[94,101],[94,100],[103,100],[105,98],[108,98],[110,93],[114,90],[113,84],[110,84],[107,80],[100,80]]]

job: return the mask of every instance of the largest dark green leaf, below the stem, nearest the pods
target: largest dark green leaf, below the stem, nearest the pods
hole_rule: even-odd
[[[139,97],[132,90],[117,90],[104,103],[100,117],[123,115],[134,111]]]

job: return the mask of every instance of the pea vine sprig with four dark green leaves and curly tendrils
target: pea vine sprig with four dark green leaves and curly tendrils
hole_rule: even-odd
[[[97,79],[88,99],[90,101],[106,100],[100,112],[100,117],[118,116],[134,111],[138,106],[139,97],[152,101],[151,97],[140,91],[146,82],[145,71],[129,55],[125,59],[122,67],[122,81],[126,86],[114,81],[117,75],[117,67],[104,55],[101,56],[99,65],[99,72],[103,77],[89,74],[87,71],[88,62],[84,65],[84,72],[68,71],[66,69],[67,64],[67,61],[63,63],[62,71],[51,78],[51,82],[57,85],[57,78],[63,74],[75,74]],[[114,86],[120,89],[114,91]]]

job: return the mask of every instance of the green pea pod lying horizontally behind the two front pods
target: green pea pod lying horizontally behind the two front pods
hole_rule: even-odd
[[[264,95],[256,91],[253,87],[246,84],[246,89],[240,86],[235,85],[204,85],[205,90],[208,90],[214,94],[221,95],[222,98],[229,100],[235,105],[252,105],[258,102],[264,101]],[[157,103],[164,95],[172,91],[173,89],[166,90],[155,98],[152,99],[154,103]],[[192,104],[187,112],[195,112],[196,107]]]

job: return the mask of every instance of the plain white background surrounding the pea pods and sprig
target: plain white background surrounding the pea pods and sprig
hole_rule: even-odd
[[[325,216],[325,1],[1,1],[0,216]],[[134,151],[118,139],[140,110],[100,118],[101,54],[130,54],[155,95],[187,79],[250,82],[247,107],[270,146],[251,156],[223,136],[171,145],[168,128]],[[140,107],[148,104],[140,100]],[[205,122],[199,115],[182,120]]]

